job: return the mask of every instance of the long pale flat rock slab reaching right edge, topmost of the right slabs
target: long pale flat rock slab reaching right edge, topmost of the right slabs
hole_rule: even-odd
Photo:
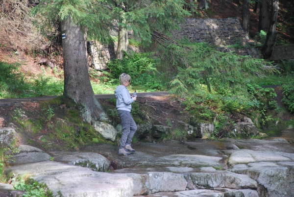
[[[254,150],[231,150],[228,164],[247,164],[253,162],[284,162],[294,161],[294,153],[274,152],[274,151],[254,151]]]

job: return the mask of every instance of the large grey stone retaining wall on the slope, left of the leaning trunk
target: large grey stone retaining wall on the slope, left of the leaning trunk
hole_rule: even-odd
[[[258,49],[245,47],[248,45],[248,40],[238,18],[186,19],[186,23],[180,26],[180,31],[173,33],[176,39],[188,38],[192,42],[206,42],[216,46],[216,49],[222,52],[235,51],[239,55],[259,58]],[[244,48],[227,47],[236,43]]]

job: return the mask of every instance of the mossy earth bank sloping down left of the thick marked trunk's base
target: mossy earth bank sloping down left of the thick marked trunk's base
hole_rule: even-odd
[[[6,124],[20,133],[18,144],[46,151],[78,150],[84,145],[110,143],[90,123],[82,121],[81,106],[64,97],[6,105]]]

